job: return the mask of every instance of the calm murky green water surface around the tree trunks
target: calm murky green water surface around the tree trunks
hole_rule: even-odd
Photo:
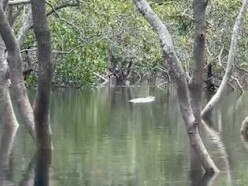
[[[155,102],[128,101],[148,95]],[[173,88],[54,91],[50,112],[50,186],[248,185],[248,143],[239,134],[248,115],[247,93],[227,95],[212,113],[211,127],[201,130],[221,170],[211,178],[190,172],[189,141]],[[34,174],[34,149],[20,127],[10,158],[15,185]]]

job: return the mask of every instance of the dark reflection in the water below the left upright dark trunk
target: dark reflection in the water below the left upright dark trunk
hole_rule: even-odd
[[[51,158],[51,150],[38,150],[34,186],[49,186],[49,167],[51,165]]]

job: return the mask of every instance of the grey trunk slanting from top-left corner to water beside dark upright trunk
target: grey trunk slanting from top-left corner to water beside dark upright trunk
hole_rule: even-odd
[[[35,138],[33,110],[27,96],[21,69],[21,54],[13,31],[0,4],[0,35],[8,51],[7,61],[10,69],[11,85],[18,111],[29,133]]]

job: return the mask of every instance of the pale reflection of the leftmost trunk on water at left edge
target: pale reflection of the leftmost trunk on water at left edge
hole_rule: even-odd
[[[13,149],[13,141],[18,126],[8,127],[3,131],[0,146],[0,185],[14,185],[12,182],[12,168],[10,166],[10,155]]]

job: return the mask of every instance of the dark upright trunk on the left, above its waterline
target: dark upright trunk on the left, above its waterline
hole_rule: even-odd
[[[49,121],[49,98],[53,73],[51,36],[48,28],[45,0],[31,0],[33,28],[38,43],[38,89],[34,117],[38,138],[38,148],[51,149],[51,130]]]

